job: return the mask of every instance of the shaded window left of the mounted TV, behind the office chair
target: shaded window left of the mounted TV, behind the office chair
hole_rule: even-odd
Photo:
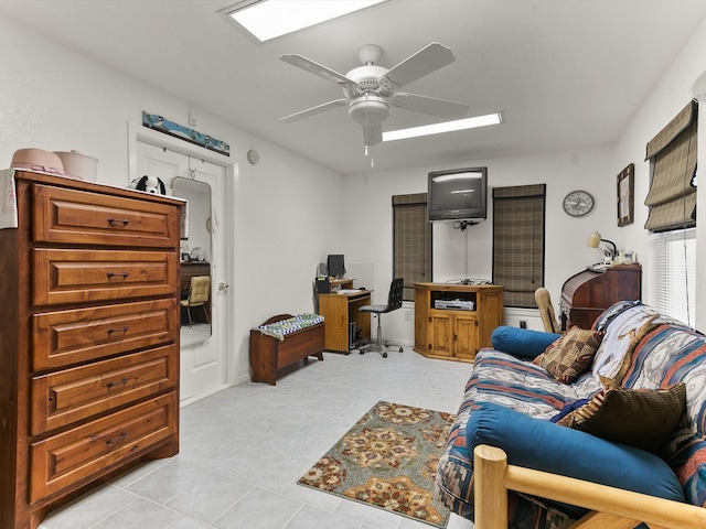
[[[404,278],[404,301],[415,300],[414,283],[431,281],[431,223],[427,194],[393,196],[393,278]]]

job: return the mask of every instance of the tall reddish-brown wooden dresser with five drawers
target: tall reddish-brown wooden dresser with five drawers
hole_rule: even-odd
[[[15,173],[0,229],[0,527],[179,451],[181,202]]]

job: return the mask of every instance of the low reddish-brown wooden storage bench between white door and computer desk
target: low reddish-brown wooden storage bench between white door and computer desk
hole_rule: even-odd
[[[263,325],[289,320],[290,314],[272,316]],[[276,385],[277,371],[292,364],[315,356],[323,360],[325,323],[285,335],[284,339],[263,334],[259,328],[250,330],[250,379],[254,382]]]

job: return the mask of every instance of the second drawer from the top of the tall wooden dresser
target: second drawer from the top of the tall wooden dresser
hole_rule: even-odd
[[[174,252],[34,248],[32,303],[54,305],[176,295]]]

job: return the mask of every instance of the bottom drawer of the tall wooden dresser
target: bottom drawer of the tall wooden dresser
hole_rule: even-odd
[[[176,393],[118,411],[30,446],[30,503],[105,475],[176,435]]]

